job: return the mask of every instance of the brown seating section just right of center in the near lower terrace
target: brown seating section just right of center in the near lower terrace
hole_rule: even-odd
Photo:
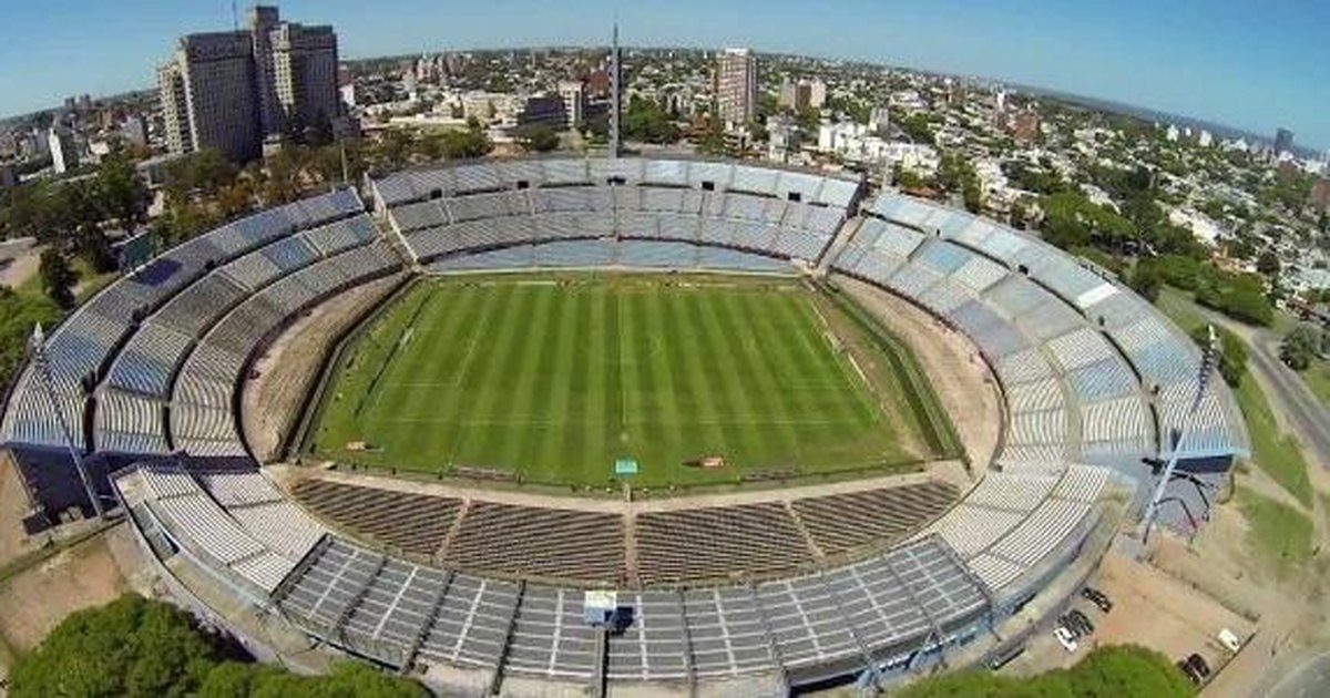
[[[644,582],[722,578],[810,564],[813,553],[779,503],[648,512],[637,516]]]

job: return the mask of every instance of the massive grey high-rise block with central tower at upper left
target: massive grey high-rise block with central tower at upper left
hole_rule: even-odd
[[[184,36],[158,69],[166,142],[173,153],[215,148],[253,160],[265,138],[331,124],[336,76],[331,27],[283,23],[277,8],[255,7],[249,29]]]

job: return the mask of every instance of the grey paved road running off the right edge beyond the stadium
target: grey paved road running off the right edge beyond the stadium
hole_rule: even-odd
[[[1206,308],[1201,311],[1214,324],[1246,340],[1252,347],[1252,368],[1261,374],[1265,384],[1270,387],[1270,392],[1266,394],[1270,407],[1285,416],[1311,460],[1330,468],[1330,409],[1321,404],[1297,372],[1279,360],[1279,338],[1266,330],[1236,323]]]

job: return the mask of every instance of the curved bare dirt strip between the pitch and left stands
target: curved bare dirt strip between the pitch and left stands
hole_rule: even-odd
[[[255,457],[266,463],[281,456],[282,440],[295,428],[305,395],[319,378],[329,343],[383,300],[398,281],[398,277],[379,279],[321,303],[254,362],[258,378],[245,383],[241,413]]]

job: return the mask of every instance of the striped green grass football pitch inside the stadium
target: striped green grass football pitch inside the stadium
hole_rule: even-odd
[[[713,277],[422,282],[332,367],[306,449],[584,487],[612,484],[620,457],[640,463],[634,485],[662,487],[938,456],[928,417],[876,379],[887,350],[825,300],[793,281]],[[726,465],[692,464],[706,455]]]

